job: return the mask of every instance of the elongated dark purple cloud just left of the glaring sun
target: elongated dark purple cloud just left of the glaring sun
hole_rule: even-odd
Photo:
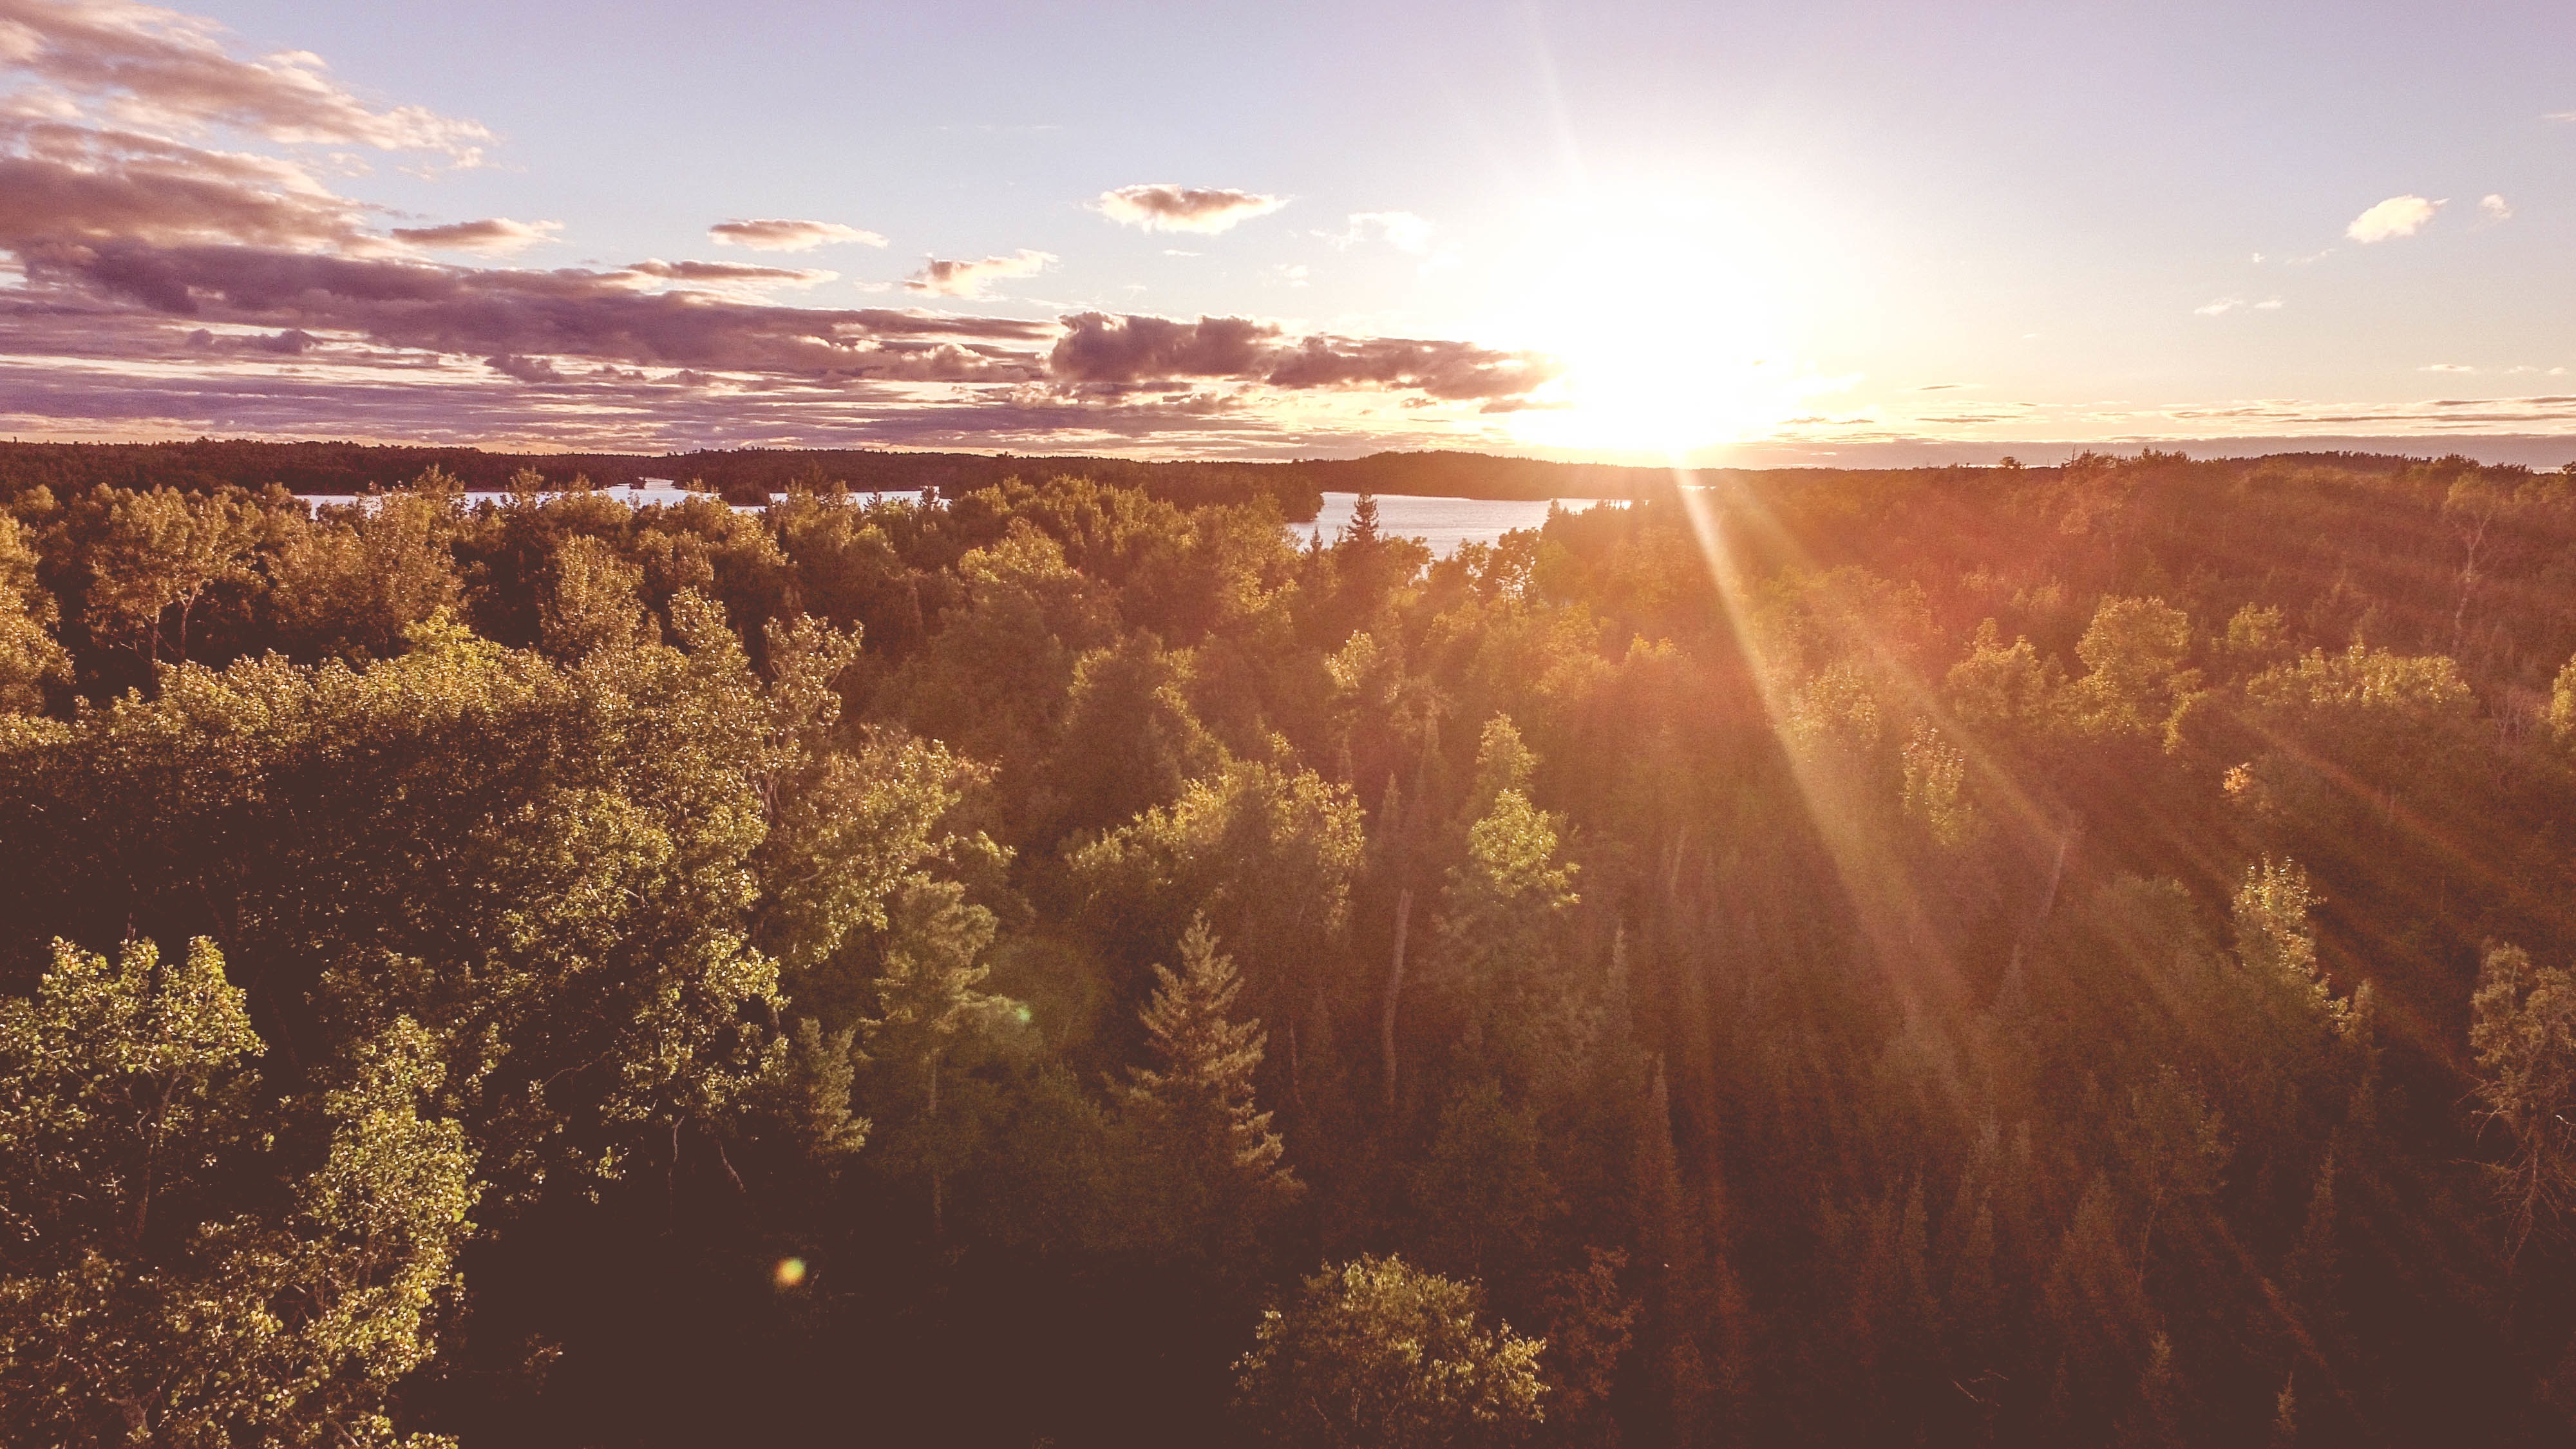
[[[1412,338],[1288,340],[1273,322],[1249,317],[1064,317],[1064,338],[1046,358],[1059,382],[1097,387],[1167,387],[1182,379],[1244,379],[1280,389],[1404,387],[1440,400],[1517,397],[1561,371],[1538,353],[1504,353],[1473,343]]]

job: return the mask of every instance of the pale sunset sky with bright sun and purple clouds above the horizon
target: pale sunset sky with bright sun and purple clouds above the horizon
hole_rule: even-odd
[[[0,0],[0,433],[2555,467],[2568,54],[2563,0]]]

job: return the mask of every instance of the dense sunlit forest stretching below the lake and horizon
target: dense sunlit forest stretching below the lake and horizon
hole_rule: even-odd
[[[157,456],[0,459],[8,1444],[2576,1434],[2576,469]]]

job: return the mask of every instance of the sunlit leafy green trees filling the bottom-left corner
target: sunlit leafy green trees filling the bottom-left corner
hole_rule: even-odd
[[[0,1011],[0,1426],[44,1444],[415,1444],[386,1415],[453,1312],[474,1152],[422,1116],[443,1065],[397,1018],[319,1093],[322,1163],[245,1191],[291,1114],[224,959],[54,946]]]

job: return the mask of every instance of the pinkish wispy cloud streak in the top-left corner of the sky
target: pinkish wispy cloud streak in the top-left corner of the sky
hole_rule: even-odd
[[[224,28],[126,0],[0,0],[0,62],[137,129],[209,126],[278,144],[440,152],[471,165],[492,131],[420,106],[374,108],[330,77],[322,57],[240,59]]]

